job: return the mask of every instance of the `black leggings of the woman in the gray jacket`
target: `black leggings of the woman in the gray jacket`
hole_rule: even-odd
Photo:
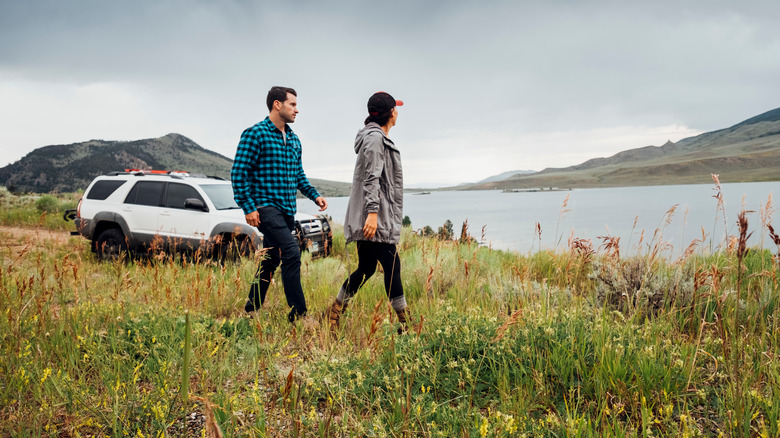
[[[352,298],[372,275],[376,272],[376,262],[385,271],[385,291],[388,298],[403,296],[404,287],[401,284],[401,259],[398,250],[391,243],[369,242],[358,240],[358,267],[342,288],[346,291],[346,299]]]

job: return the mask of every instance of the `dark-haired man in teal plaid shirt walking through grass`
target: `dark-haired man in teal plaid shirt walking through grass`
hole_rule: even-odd
[[[301,163],[301,142],[288,125],[295,122],[298,114],[298,94],[292,88],[273,87],[266,105],[268,117],[241,134],[230,172],[236,203],[244,210],[246,222],[263,233],[263,247],[268,249],[244,310],[251,313],[263,305],[281,263],[282,285],[291,308],[287,317],[294,322],[306,315],[301,252],[291,234],[295,226],[295,194],[300,190],[320,211],[328,208],[328,203],[309,184]]]

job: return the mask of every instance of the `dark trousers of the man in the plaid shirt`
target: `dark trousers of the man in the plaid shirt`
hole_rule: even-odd
[[[279,211],[276,207],[260,207],[260,226],[263,233],[263,248],[268,249],[257,269],[255,282],[249,289],[249,301],[260,308],[271,285],[276,268],[282,265],[282,285],[287,305],[291,307],[287,318],[292,322],[306,315],[306,298],[301,287],[301,250],[293,237],[295,218]]]

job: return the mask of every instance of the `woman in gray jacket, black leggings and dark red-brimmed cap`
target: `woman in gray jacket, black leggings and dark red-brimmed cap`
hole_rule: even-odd
[[[385,290],[398,315],[401,334],[407,329],[409,312],[401,284],[401,260],[396,245],[401,239],[403,218],[403,170],[401,153],[387,135],[403,105],[380,91],[368,99],[368,118],[355,138],[355,173],[347,205],[344,235],[347,243],[357,242],[358,267],[341,286],[328,309],[332,332],[339,317],[360,286],[382,265]]]

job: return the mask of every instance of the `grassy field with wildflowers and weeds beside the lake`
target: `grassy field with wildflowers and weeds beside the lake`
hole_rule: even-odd
[[[257,258],[100,263],[61,220],[77,195],[0,195],[2,436],[780,436],[777,258],[740,245],[770,202],[742,240],[674,260],[407,228],[419,330],[395,333],[376,275],[333,338],[286,321],[280,281],[245,317]],[[356,264],[339,231],[304,255],[312,315]]]

